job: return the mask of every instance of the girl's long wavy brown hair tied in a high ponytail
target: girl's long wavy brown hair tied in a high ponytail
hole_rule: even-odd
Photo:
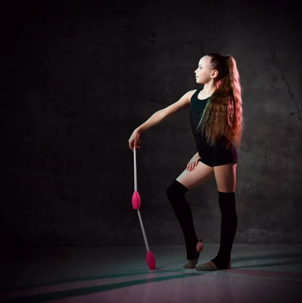
[[[242,111],[241,85],[235,59],[210,53],[208,69],[217,70],[214,78],[216,90],[210,96],[203,114],[197,123],[196,131],[206,135],[208,144],[215,145],[225,136],[223,144],[229,148],[232,142],[240,149],[244,119]]]

